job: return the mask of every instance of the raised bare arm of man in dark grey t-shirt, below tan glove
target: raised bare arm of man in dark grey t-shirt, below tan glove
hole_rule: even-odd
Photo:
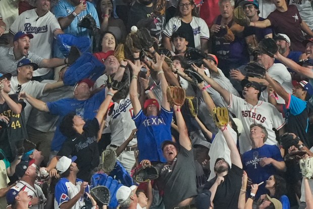
[[[188,130],[187,130],[183,115],[180,112],[180,106],[174,105],[174,112],[176,116],[178,130],[179,130],[179,143],[185,149],[191,150],[191,141],[188,136]]]

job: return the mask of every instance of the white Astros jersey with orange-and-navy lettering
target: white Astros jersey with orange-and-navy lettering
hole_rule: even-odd
[[[230,94],[228,110],[241,120],[243,132],[239,136],[240,153],[251,150],[250,125],[252,123],[263,125],[268,131],[266,144],[278,145],[273,128],[279,130],[285,125],[282,114],[269,102],[259,100],[255,106],[244,99]]]

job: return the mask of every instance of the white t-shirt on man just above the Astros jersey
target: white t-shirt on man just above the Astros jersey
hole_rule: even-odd
[[[291,75],[288,72],[286,66],[281,63],[275,63],[268,70],[269,75],[276,80],[280,85],[290,94],[292,94],[292,79]],[[259,100],[269,101],[268,91],[262,91]],[[278,95],[277,103],[284,104],[285,100]]]

